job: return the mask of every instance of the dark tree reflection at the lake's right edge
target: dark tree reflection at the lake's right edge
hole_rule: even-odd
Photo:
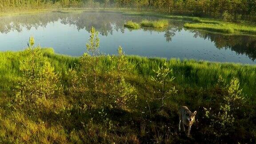
[[[229,48],[237,54],[245,54],[251,60],[256,60],[256,36],[222,35],[210,32],[194,32],[194,37],[211,40],[216,48]]]

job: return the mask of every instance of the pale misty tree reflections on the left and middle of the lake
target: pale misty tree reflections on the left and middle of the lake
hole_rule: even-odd
[[[124,33],[124,23],[127,20],[140,22],[142,19],[156,20],[155,17],[149,16],[127,16],[121,13],[102,13],[102,12],[86,12],[86,13],[60,13],[46,12],[34,15],[21,15],[12,17],[0,18],[0,32],[8,33],[11,31],[22,32],[23,28],[30,30],[31,28],[46,27],[49,23],[54,23],[60,20],[62,24],[75,25],[80,31],[95,27],[102,36],[108,36],[113,31]],[[172,22],[168,28],[152,29],[143,28],[144,31],[165,32],[165,37],[168,42],[175,36],[175,32],[181,30],[180,22]]]

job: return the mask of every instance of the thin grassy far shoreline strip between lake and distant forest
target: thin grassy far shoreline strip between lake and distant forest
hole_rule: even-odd
[[[133,10],[133,11],[132,11]],[[60,12],[60,13],[83,13],[83,12],[120,12],[123,15],[132,16],[154,16],[167,20],[183,20],[187,21],[184,28],[203,30],[207,32],[217,32],[224,35],[251,35],[256,36],[255,24],[244,24],[238,22],[227,22],[220,19],[204,18],[196,16],[172,15],[166,13],[152,12],[152,11],[138,11],[134,9],[118,9],[118,8],[51,8],[51,9],[38,9],[35,11],[27,12],[7,12],[0,13],[0,17],[5,16],[20,16],[37,14],[44,12]]]

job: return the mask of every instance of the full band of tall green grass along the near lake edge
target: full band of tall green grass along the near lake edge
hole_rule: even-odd
[[[51,48],[43,49],[44,56],[51,62],[57,72],[64,73],[68,68],[74,68],[78,63],[77,57],[55,54]],[[26,52],[0,52],[0,91],[11,90],[16,84],[16,79],[20,76],[20,60],[26,58]],[[153,69],[163,65],[166,59],[146,58],[140,56],[128,56],[128,60],[135,66],[133,73],[150,78]],[[108,71],[111,67],[107,57],[101,57],[99,64],[103,71]],[[241,88],[250,97],[255,96],[256,66],[232,63],[217,63],[196,60],[171,59],[168,61],[170,68],[173,68],[176,76],[175,82],[188,87],[212,87],[220,75],[227,81],[234,76],[239,78]]]

